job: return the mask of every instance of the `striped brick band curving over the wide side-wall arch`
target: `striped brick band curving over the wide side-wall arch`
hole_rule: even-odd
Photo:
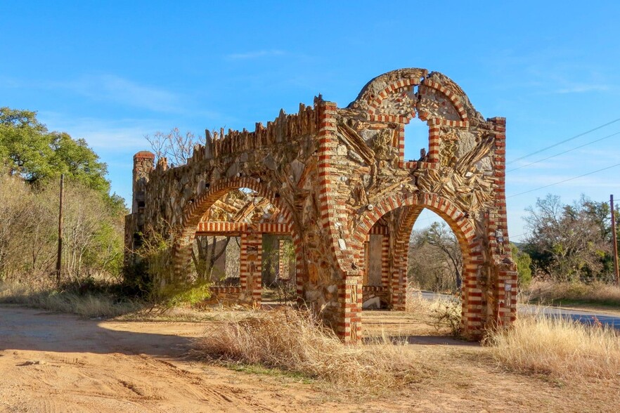
[[[172,263],[174,268],[174,277],[178,281],[189,281],[187,276],[187,269],[190,263],[191,251],[195,233],[198,229],[198,225],[202,217],[206,214],[209,208],[221,197],[231,190],[248,188],[257,192],[260,197],[268,199],[273,206],[276,206],[280,210],[283,216],[285,225],[290,231],[292,241],[295,247],[295,259],[296,268],[295,273],[297,276],[297,294],[301,294],[301,286],[304,280],[304,268],[302,260],[302,243],[299,237],[299,232],[295,226],[295,221],[292,218],[290,208],[279,197],[276,192],[273,192],[265,187],[257,178],[227,178],[221,179],[216,183],[209,186],[202,195],[194,200],[191,204],[186,206],[183,211],[183,221],[179,232],[176,235],[174,247],[172,249]],[[185,274],[185,275],[184,275]]]

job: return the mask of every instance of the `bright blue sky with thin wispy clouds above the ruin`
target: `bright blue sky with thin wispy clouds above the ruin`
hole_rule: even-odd
[[[0,105],[85,138],[125,199],[145,134],[253,130],[318,93],[342,107],[399,67],[443,72],[485,117],[508,118],[509,162],[620,118],[617,1],[3,3]],[[414,122],[412,158],[425,140]],[[616,132],[620,122],[510,164],[508,196],[618,164],[620,135],[510,171]],[[512,240],[536,197],[620,198],[619,172],[509,197]]]

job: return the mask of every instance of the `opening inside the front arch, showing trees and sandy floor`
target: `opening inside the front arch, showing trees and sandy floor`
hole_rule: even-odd
[[[432,204],[392,209],[368,230],[359,260],[366,339],[460,334],[469,249],[460,225]],[[385,236],[380,249],[372,245],[378,234]]]

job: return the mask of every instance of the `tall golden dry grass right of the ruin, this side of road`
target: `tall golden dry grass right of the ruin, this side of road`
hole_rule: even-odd
[[[529,315],[519,317],[510,329],[489,334],[493,358],[509,369],[562,378],[620,380],[620,337],[614,329]]]

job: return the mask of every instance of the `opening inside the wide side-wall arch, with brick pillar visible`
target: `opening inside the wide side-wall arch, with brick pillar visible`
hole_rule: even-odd
[[[276,201],[262,193],[227,190],[200,218],[192,260],[198,279],[212,283],[217,301],[297,299],[290,224]]]

